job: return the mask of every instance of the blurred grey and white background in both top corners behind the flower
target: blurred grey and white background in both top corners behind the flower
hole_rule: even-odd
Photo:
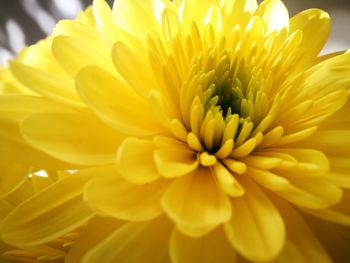
[[[92,0],[1,0],[0,64],[24,46],[50,34],[59,19],[74,18]],[[108,1],[112,4],[113,0]],[[261,1],[259,1],[261,2]],[[332,18],[330,40],[322,53],[350,48],[350,0],[284,0],[290,16],[307,9],[321,8]]]

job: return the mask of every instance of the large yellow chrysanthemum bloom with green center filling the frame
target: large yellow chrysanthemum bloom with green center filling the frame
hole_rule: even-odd
[[[33,94],[1,98],[21,116],[1,136],[45,156],[30,167],[78,172],[2,239],[45,244],[98,214],[115,224],[68,262],[348,262],[350,54],[318,57],[329,30],[279,0],[96,0],[60,22],[11,63]]]

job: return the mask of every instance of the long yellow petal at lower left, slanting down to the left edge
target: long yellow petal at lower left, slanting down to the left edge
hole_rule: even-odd
[[[82,198],[84,185],[93,176],[111,171],[110,167],[82,170],[52,184],[18,205],[2,221],[1,237],[9,244],[33,246],[77,228],[93,216]]]

